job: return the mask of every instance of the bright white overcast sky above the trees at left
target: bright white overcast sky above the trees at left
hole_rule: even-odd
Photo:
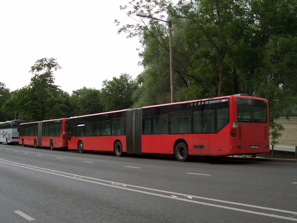
[[[11,91],[25,87],[38,59],[56,58],[55,84],[73,90],[102,88],[104,79],[143,70],[138,38],[117,34],[114,23],[134,23],[120,5],[129,0],[5,0],[0,7],[0,81]]]

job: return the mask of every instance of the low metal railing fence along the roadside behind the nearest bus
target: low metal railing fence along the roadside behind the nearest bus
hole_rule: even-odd
[[[297,159],[297,146],[270,145],[269,153],[260,153],[253,155],[234,155],[233,157]]]

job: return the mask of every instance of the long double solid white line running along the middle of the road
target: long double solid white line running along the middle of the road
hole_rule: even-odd
[[[233,211],[241,211],[241,212],[246,212],[246,213],[253,213],[253,214],[258,214],[258,215],[270,216],[270,217],[274,217],[274,218],[287,219],[287,220],[292,220],[292,221],[297,222],[296,218],[290,218],[290,217],[279,216],[279,215],[274,215],[274,214],[261,213],[261,212],[256,212],[256,211],[249,211],[249,210],[245,210],[245,209],[232,208],[232,207],[227,207],[227,206],[222,206],[222,205],[215,205],[215,204],[210,204],[210,203],[206,203],[206,202],[188,200],[188,199],[180,198],[180,197],[171,197],[171,196],[168,196],[168,195],[155,194],[155,193],[151,193],[151,192],[147,192],[147,191],[140,191],[140,190],[136,190],[136,189],[125,188],[125,187],[120,187],[120,186],[116,186],[116,185],[107,184],[107,183],[112,183],[112,184],[122,185],[122,183],[117,183],[117,182],[114,182],[114,181],[91,178],[91,177],[86,177],[86,176],[82,176],[82,175],[75,175],[75,174],[56,171],[56,170],[45,169],[45,168],[42,168],[42,167],[35,167],[35,166],[20,164],[20,163],[16,163],[16,162],[4,160],[4,159],[0,159],[0,160],[2,160],[2,161],[0,161],[0,163],[10,164],[10,165],[17,166],[17,167],[22,167],[22,168],[25,168],[25,169],[31,169],[31,170],[36,170],[36,171],[40,171],[40,172],[50,173],[50,174],[53,174],[53,175],[58,175],[58,176],[71,178],[71,179],[75,179],[75,180],[82,180],[82,181],[85,181],[85,182],[90,182],[90,183],[95,183],[95,184],[99,184],[99,185],[115,187],[115,188],[119,188],[119,189],[125,189],[125,190],[129,190],[129,191],[135,191],[135,192],[139,192],[139,193],[143,193],[143,194],[151,194],[151,195],[155,195],[155,196],[159,196],[159,197],[182,200],[182,201],[186,201],[186,202],[192,202],[192,203],[196,203],[196,204],[202,204],[202,205],[208,205],[208,206],[213,206],[213,207],[218,207],[218,208],[224,208],[224,209],[229,209],[229,210],[233,210]],[[23,165],[23,166],[21,166],[21,165]],[[34,169],[34,168],[37,168],[37,169]],[[67,174],[67,175],[70,175],[70,176],[66,176],[66,175],[62,175],[62,174]],[[80,177],[80,178],[77,178],[77,177]],[[91,180],[86,180],[86,179],[83,179],[83,178],[91,179]],[[100,182],[96,182],[96,181],[92,181],[92,180],[98,180],[98,181],[103,181],[103,182],[107,182],[107,183],[100,183]],[[147,187],[141,187],[141,186],[135,186],[135,185],[129,185],[129,184],[124,184],[124,185],[139,188],[139,189],[146,189],[146,190],[151,190],[151,191],[156,191],[156,192],[163,192],[163,193],[167,193],[167,194],[181,195],[183,197],[191,197],[191,199],[192,198],[198,198],[198,199],[203,199],[203,200],[211,200],[211,201],[222,202],[222,203],[227,203],[227,204],[241,205],[241,206],[245,206],[245,207],[252,207],[252,208],[258,208],[258,209],[264,209],[264,210],[269,210],[269,211],[277,211],[277,212],[290,213],[290,214],[297,215],[297,212],[294,212],[294,211],[286,211],[286,210],[281,210],[281,209],[276,209],[276,208],[266,208],[266,207],[257,206],[257,205],[249,205],[249,204],[243,204],[243,203],[237,203],[237,202],[231,202],[231,201],[217,200],[217,199],[212,199],[212,198],[207,198],[207,197],[199,197],[199,196],[188,195],[188,194],[174,193],[174,192],[170,192],[170,191],[163,191],[163,190],[147,188]]]

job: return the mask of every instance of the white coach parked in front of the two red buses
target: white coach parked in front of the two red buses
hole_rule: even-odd
[[[25,120],[12,120],[0,123],[0,144],[18,143],[18,127],[20,123],[26,123]]]

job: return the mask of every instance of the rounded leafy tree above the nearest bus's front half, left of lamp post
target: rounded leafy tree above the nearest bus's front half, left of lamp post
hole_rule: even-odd
[[[100,99],[104,112],[131,108],[133,105],[132,94],[138,88],[135,80],[128,74],[122,74],[119,78],[104,80]]]

